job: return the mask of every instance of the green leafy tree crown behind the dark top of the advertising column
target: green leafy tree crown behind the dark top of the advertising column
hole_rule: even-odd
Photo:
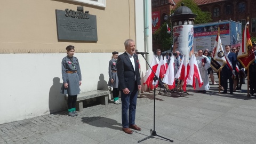
[[[197,14],[197,17],[195,18],[194,23],[198,24],[198,23],[206,23],[206,22],[211,22],[211,12],[204,12],[202,11],[197,4],[194,1],[191,0],[181,0],[180,2],[178,2],[176,4],[176,7],[174,10],[171,11],[171,13],[174,13],[175,10],[177,10],[180,6],[181,3],[184,3],[184,6],[189,7],[189,9],[191,9],[191,11],[194,14]]]

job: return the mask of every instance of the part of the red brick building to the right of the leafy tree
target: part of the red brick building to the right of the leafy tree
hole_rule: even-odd
[[[233,20],[242,23],[244,28],[249,16],[251,36],[256,36],[255,0],[194,0],[202,11],[212,13],[212,21]]]

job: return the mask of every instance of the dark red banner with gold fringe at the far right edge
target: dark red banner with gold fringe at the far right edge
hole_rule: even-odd
[[[241,62],[245,69],[249,68],[250,64],[255,60],[254,52],[252,49],[252,41],[247,25],[249,25],[249,22],[247,22],[245,25],[242,37],[242,47],[237,55],[237,59]],[[248,47],[250,47],[250,49],[248,49]]]

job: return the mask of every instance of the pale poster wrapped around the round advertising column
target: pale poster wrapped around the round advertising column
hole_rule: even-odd
[[[188,62],[192,54],[194,43],[194,26],[182,25],[173,27],[173,53],[179,51],[181,55],[188,55],[186,61]]]

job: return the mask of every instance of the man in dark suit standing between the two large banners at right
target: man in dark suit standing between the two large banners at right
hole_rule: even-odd
[[[233,94],[233,79],[232,75],[235,74],[236,69],[236,54],[230,52],[230,45],[225,46],[225,57],[227,64],[222,68],[221,73],[223,76],[223,87],[224,91],[222,93],[228,92],[228,80],[229,80],[229,89],[230,94]]]

